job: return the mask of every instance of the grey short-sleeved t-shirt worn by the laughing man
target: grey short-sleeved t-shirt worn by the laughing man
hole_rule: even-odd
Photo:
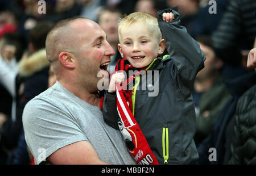
[[[121,133],[104,123],[100,107],[84,102],[59,82],[26,104],[23,127],[35,164],[77,141],[89,141],[101,161],[136,164]]]

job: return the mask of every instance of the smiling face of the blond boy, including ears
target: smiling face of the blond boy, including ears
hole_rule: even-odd
[[[144,68],[165,49],[163,40],[140,22],[131,23],[120,31],[118,50],[122,58],[129,60],[134,68]]]

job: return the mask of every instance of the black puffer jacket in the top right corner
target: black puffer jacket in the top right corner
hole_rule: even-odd
[[[240,51],[253,48],[256,33],[255,12],[255,0],[232,0],[226,7],[220,24],[213,33],[215,52],[226,63],[240,65]]]

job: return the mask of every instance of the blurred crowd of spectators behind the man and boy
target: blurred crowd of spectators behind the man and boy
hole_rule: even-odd
[[[1,0],[0,164],[33,164],[22,112],[56,81],[45,51],[53,24],[77,16],[100,24],[115,49],[112,72],[121,58],[118,19],[135,11],[156,16],[176,6],[181,24],[207,58],[193,90],[197,164],[256,164],[256,106],[251,105],[256,95],[248,93],[255,90],[256,74],[246,67],[249,51],[256,48],[255,0]],[[214,160],[210,148],[217,151]]]

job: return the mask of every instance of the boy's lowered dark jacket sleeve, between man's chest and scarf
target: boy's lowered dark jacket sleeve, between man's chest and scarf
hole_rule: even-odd
[[[106,124],[110,127],[119,129],[117,121],[119,115],[117,112],[117,98],[113,94],[109,94],[105,91],[104,101],[103,101],[103,117]]]

